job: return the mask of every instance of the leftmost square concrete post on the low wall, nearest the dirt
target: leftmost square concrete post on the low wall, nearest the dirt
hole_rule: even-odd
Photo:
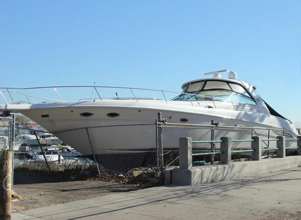
[[[179,148],[179,162],[180,169],[191,169],[192,168],[192,139],[191,138],[180,138]]]

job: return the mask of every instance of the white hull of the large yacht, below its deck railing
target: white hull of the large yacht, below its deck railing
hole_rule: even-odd
[[[287,120],[279,117],[256,112],[242,112],[228,109],[206,108],[208,103],[189,105],[188,102],[164,101],[135,102],[135,100],[98,101],[96,102],[70,102],[63,104],[49,104],[49,107],[33,105],[29,109],[20,110],[20,113],[37,122],[43,128],[52,132],[60,140],[75,148],[83,155],[119,154],[156,151],[155,120],[160,112],[168,123],[182,123],[185,119],[191,124],[211,125],[211,121],[219,126],[233,126],[238,128],[253,128],[252,135],[259,135],[264,139],[282,136],[281,130],[285,128],[286,136],[296,138],[297,131]],[[45,104],[43,104],[45,105]],[[202,107],[203,106],[203,107]],[[259,111],[260,112],[260,111]],[[81,114],[91,114],[91,117],[82,117]],[[109,117],[109,113],[117,113],[118,117]],[[135,125],[149,124],[153,125]],[[127,125],[127,127],[121,126]],[[134,126],[135,125],[135,126]],[[87,128],[87,129],[86,129]],[[260,129],[278,130],[278,132]],[[192,137],[193,140],[211,140],[211,133],[201,134],[199,128],[186,128],[175,133],[175,129],[163,130],[163,147],[165,149],[179,148],[180,137]],[[237,133],[237,132],[236,132]],[[245,133],[215,131],[214,140],[222,136],[233,136],[234,139],[246,139]],[[249,137],[249,136],[248,136]],[[295,146],[296,141],[287,141],[287,147]],[[241,144],[243,145],[243,144]],[[265,144],[263,144],[264,147]],[[275,142],[270,141],[269,147]],[[198,147],[202,151],[210,149],[207,146]]]

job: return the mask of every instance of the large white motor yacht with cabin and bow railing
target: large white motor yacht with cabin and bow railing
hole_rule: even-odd
[[[156,90],[163,93],[164,99],[138,98],[133,92],[137,88],[125,87],[122,87],[122,89],[129,89],[132,92],[132,97],[122,98],[116,93],[116,97],[105,99],[101,97],[97,89],[113,87],[91,86],[97,92],[98,98],[92,100],[63,101],[56,90],[59,87],[39,87],[25,88],[25,90],[52,88],[59,97],[59,100],[43,98],[48,103],[42,102],[36,104],[9,104],[6,101],[6,104],[0,105],[0,111],[3,111],[5,114],[21,113],[25,115],[84,155],[91,155],[92,151],[89,150],[91,148],[88,140],[82,138],[82,131],[75,128],[154,123],[158,112],[162,113],[162,116],[167,119],[168,123],[211,125],[211,121],[214,120],[219,123],[219,126],[258,129],[256,133],[263,138],[275,138],[283,134],[287,138],[297,137],[298,133],[293,124],[274,111],[259,96],[255,91],[256,86],[237,80],[237,74],[233,71],[229,72],[228,78],[222,78],[220,74],[224,72],[229,71],[226,69],[205,73],[205,76],[214,76],[213,78],[197,79],[184,83],[182,85],[182,92],[178,92],[179,95],[172,100],[167,100],[165,95],[170,91]],[[10,97],[12,98],[14,93],[17,92],[15,91],[16,89],[1,88],[1,95],[4,100],[6,100],[4,96],[5,92],[10,93]],[[21,94],[20,92],[17,93]],[[27,102],[31,102],[30,98],[34,96],[26,95],[26,97],[28,99]],[[73,133],[73,135],[65,135],[64,132],[59,132],[70,129],[74,129],[74,131],[69,132],[69,134]],[[267,130],[260,129],[270,129],[272,131],[268,134]],[[94,144],[96,151],[105,150],[106,153],[116,153],[129,148],[136,150],[144,148],[141,142],[129,144],[127,142],[128,137],[124,137],[121,146],[110,144],[107,140],[114,140],[121,133],[124,133],[123,135],[126,136],[125,131],[116,131],[118,134],[108,133],[103,138],[96,130],[91,130],[90,136],[93,138],[94,143],[99,143],[96,146]],[[136,131],[136,135],[143,136],[148,132],[154,133],[155,129],[140,129]],[[173,134],[166,134],[164,138],[172,140]],[[156,140],[152,141],[156,142]],[[286,144],[289,147],[294,146],[296,143],[290,141]],[[178,145],[179,140],[175,139],[171,146],[165,145],[164,147],[176,148]]]

